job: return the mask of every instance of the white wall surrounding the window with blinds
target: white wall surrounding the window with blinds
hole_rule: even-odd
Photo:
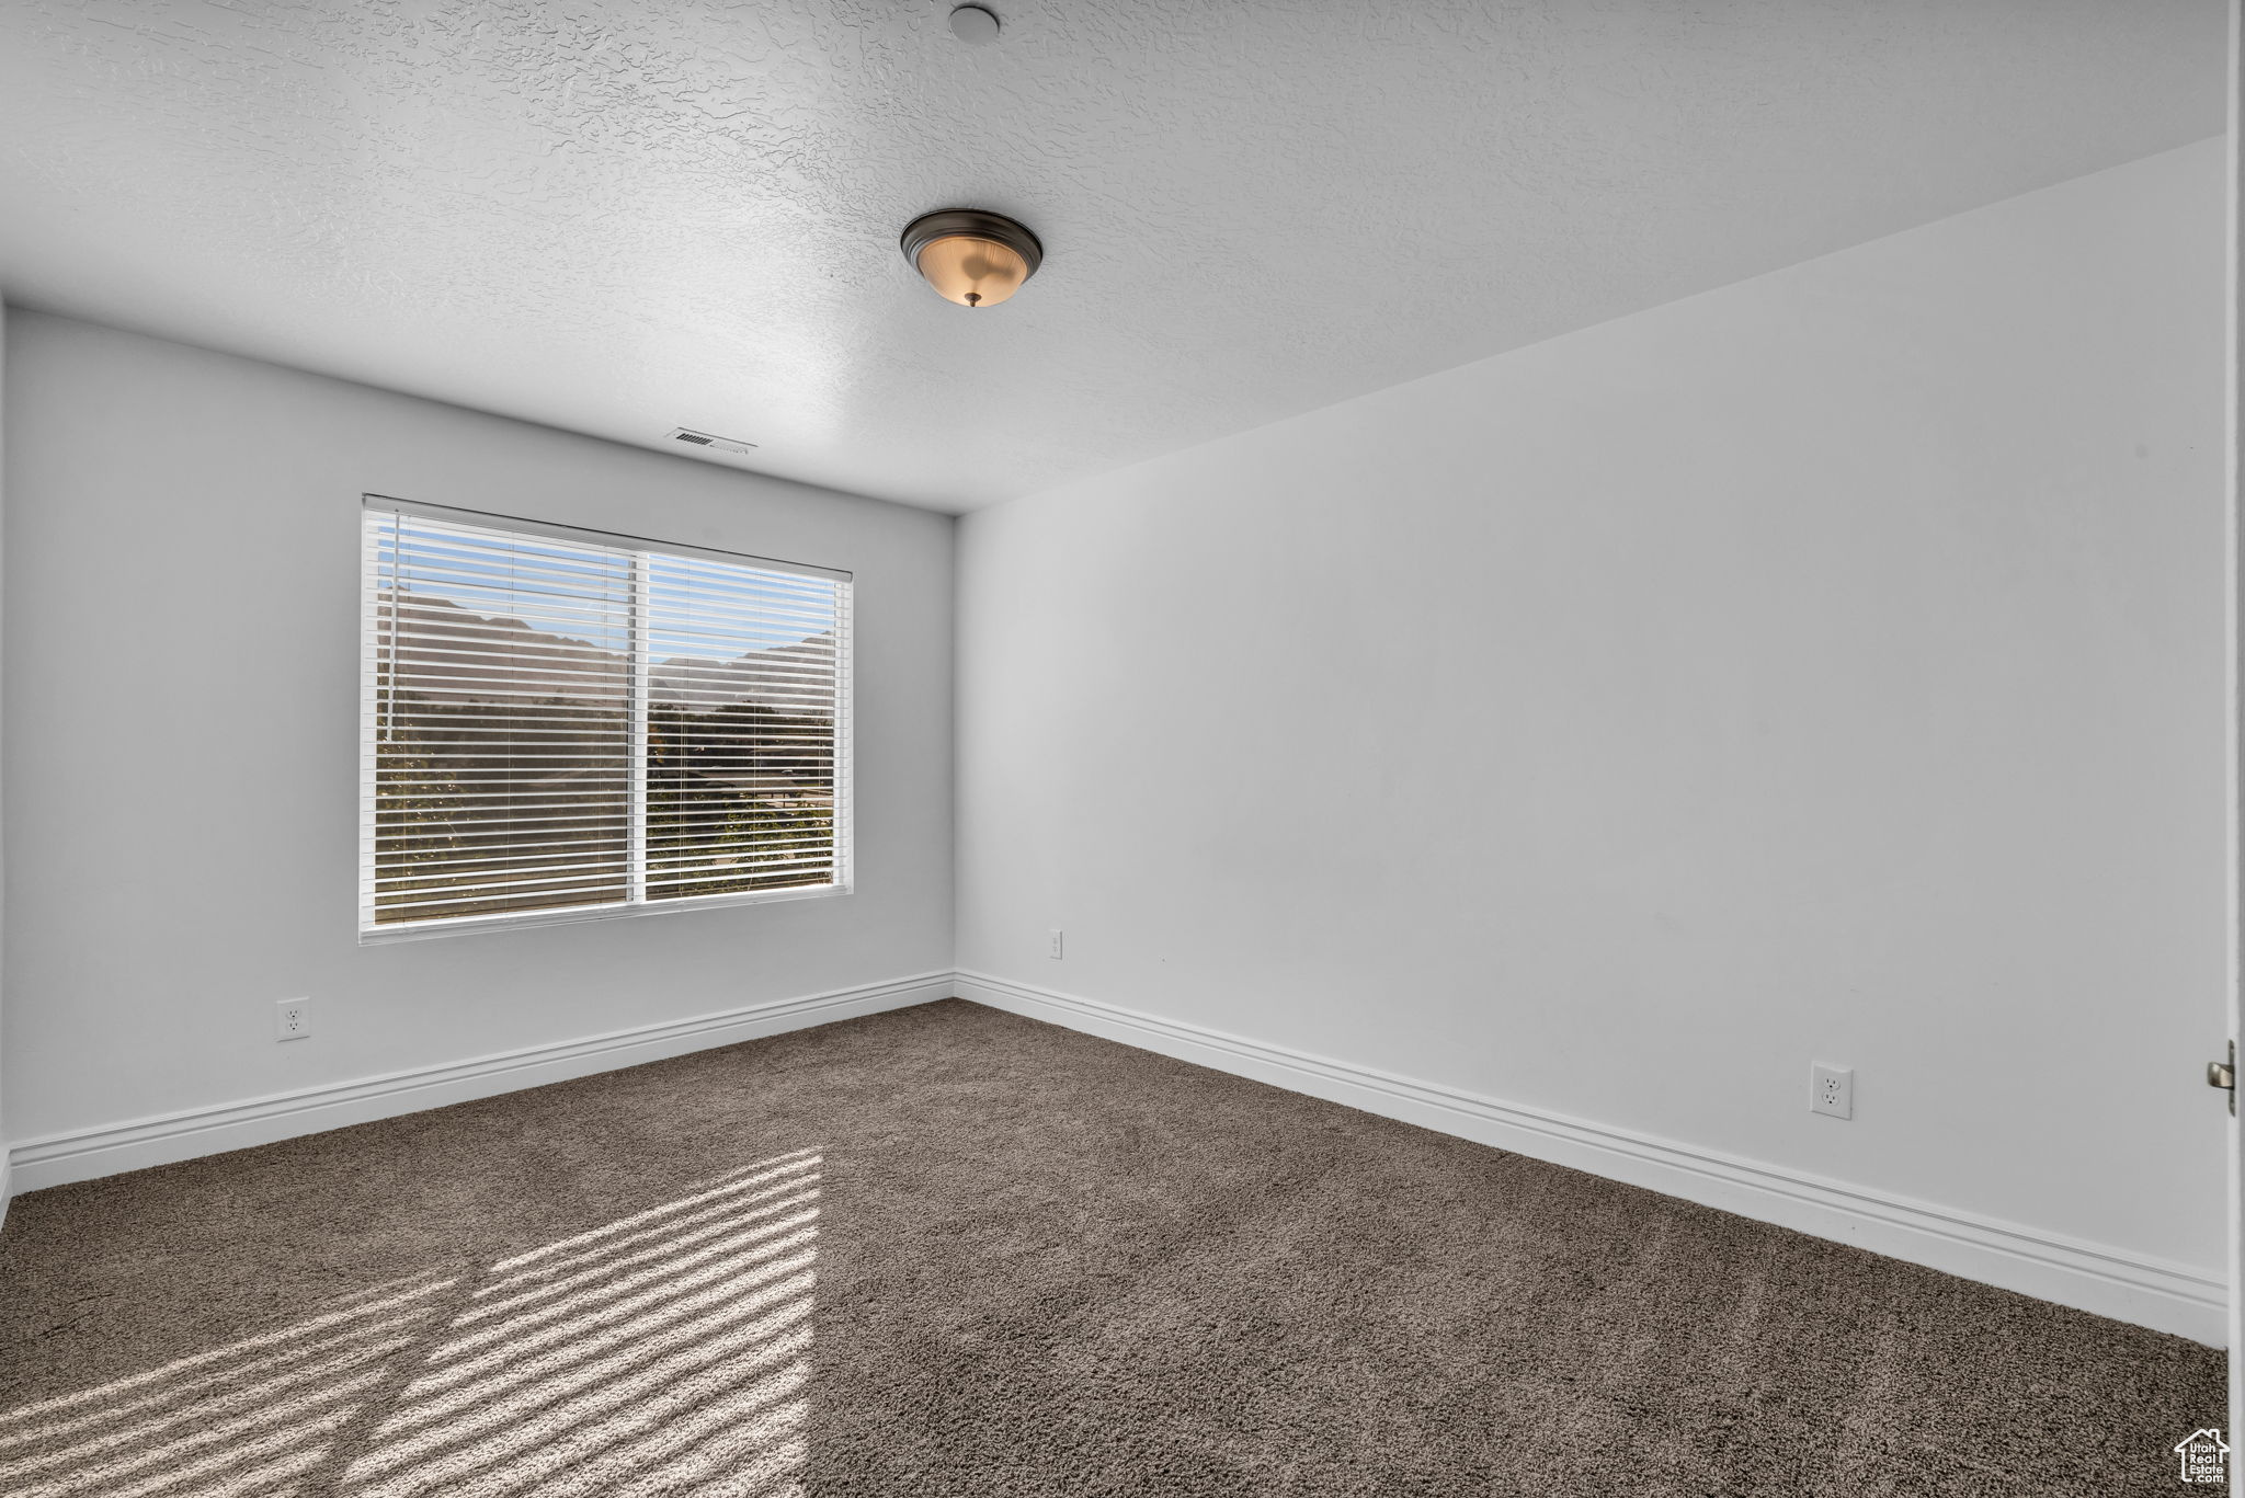
[[[20,310],[4,418],[18,1145],[950,968],[950,517]],[[361,492],[853,570],[855,894],[361,948]]]

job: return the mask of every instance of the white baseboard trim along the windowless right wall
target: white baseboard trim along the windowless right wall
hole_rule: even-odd
[[[2189,1264],[1800,1175],[1673,1139],[1500,1103],[986,972],[959,972],[954,993],[992,1008],[1646,1186],[1982,1285],[2173,1332],[2211,1348],[2227,1343],[2229,1287]]]

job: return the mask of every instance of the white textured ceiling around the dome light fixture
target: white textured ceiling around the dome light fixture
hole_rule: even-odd
[[[0,0],[0,292],[965,510],[2223,128],[2223,0],[947,9]]]

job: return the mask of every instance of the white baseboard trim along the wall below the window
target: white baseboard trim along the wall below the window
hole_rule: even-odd
[[[885,1008],[907,1008],[947,997],[952,997],[950,972],[920,972],[887,984],[750,1004],[716,1015],[642,1024],[586,1040],[523,1047],[521,1051],[478,1056],[445,1067],[393,1071],[357,1083],[251,1098],[249,1103],[198,1107],[72,1134],[47,1134],[45,1139],[27,1139],[9,1148],[0,1179],[11,1177],[13,1190],[20,1195],[65,1181],[88,1181],[101,1175],[166,1166],[222,1150],[245,1150],[249,1145],[274,1143],[276,1139],[294,1139],[296,1134],[319,1134],[321,1130],[413,1114],[424,1107],[489,1098],[521,1087],[543,1087],[546,1083],[561,1083],[572,1076],[638,1067],[665,1056],[707,1051],[741,1040],[757,1040],[759,1035],[810,1029],[813,1024],[831,1024],[835,1020],[853,1020]],[[0,1204],[4,1202],[7,1197],[0,1195]]]

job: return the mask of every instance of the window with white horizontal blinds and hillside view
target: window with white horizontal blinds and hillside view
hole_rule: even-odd
[[[849,889],[849,573],[366,499],[359,932]]]

